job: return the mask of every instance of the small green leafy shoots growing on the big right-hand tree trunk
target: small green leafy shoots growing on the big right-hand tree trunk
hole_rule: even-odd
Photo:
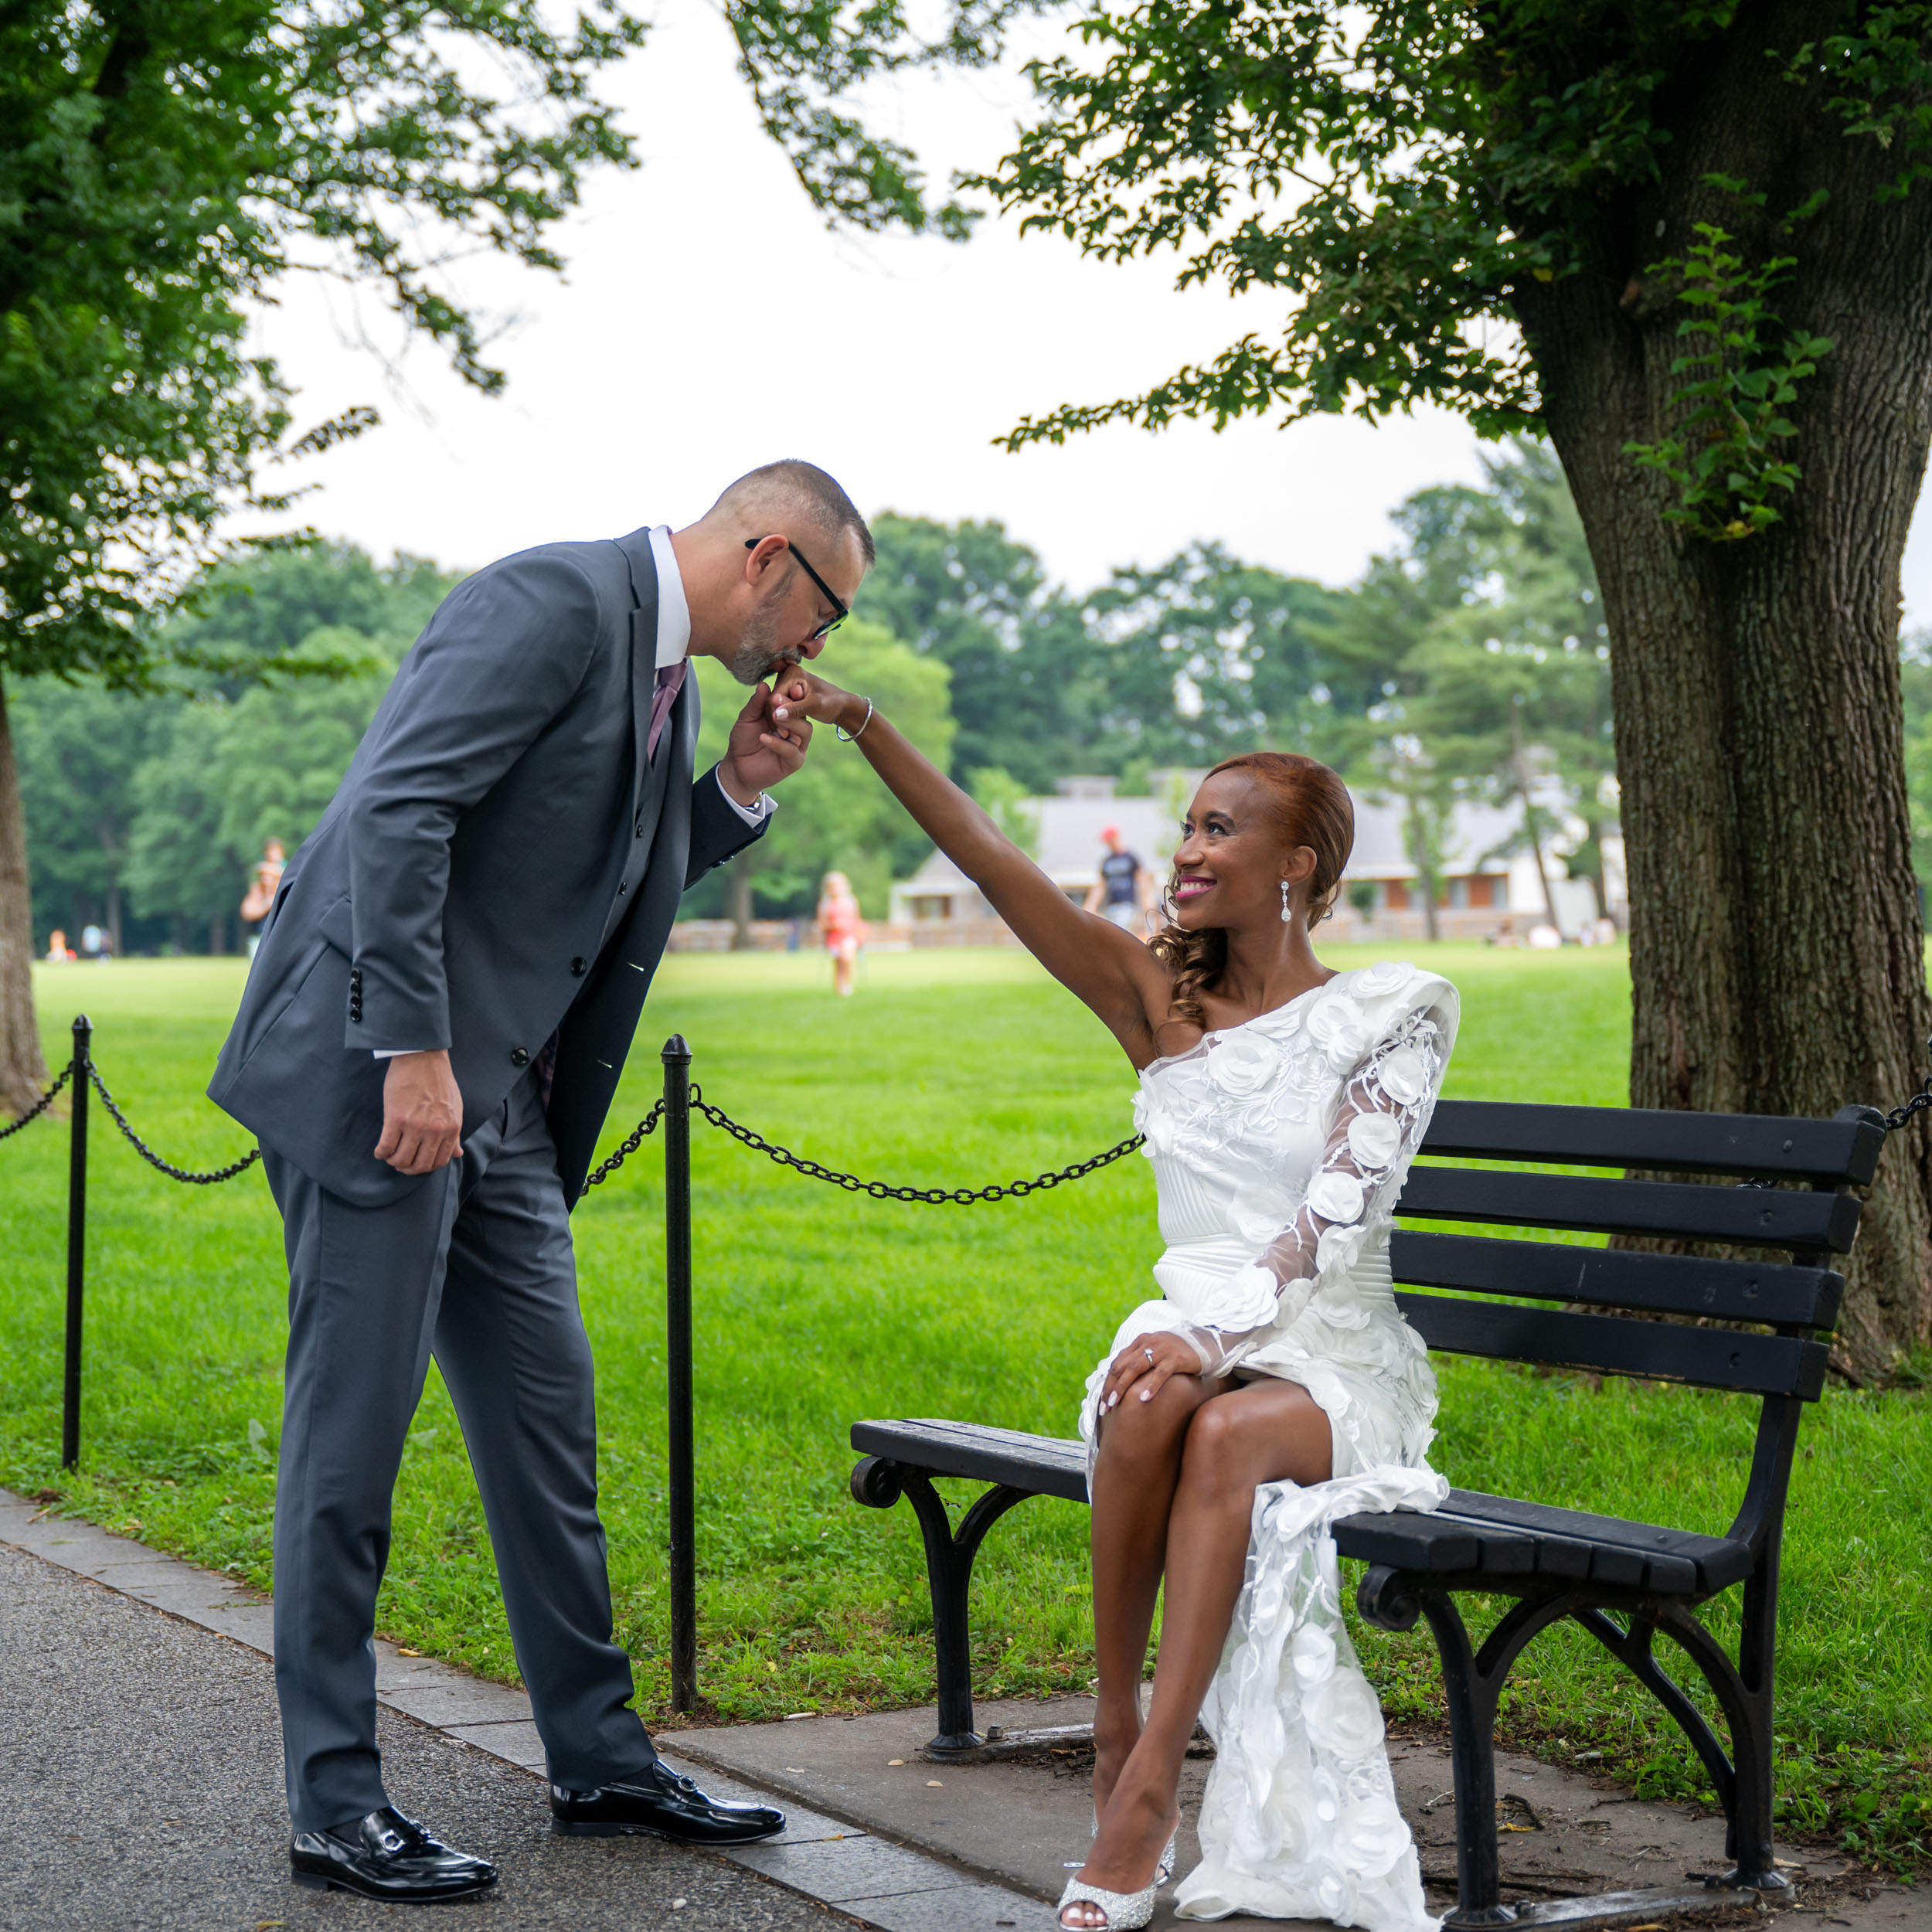
[[[1797,487],[1799,466],[1779,454],[1797,435],[1785,412],[1832,342],[1777,328],[1772,292],[1795,257],[1750,269],[1718,224],[1698,222],[1694,232],[1681,257],[1646,270],[1679,282],[1677,299],[1690,309],[1677,325],[1683,354],[1671,361],[1673,377],[1689,377],[1671,396],[1677,435],[1623,448],[1677,487],[1667,522],[1710,543],[1737,543],[1776,524],[1783,512],[1774,497]]]

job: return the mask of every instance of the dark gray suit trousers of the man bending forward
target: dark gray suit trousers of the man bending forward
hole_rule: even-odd
[[[551,1777],[587,1789],[641,1770],[655,1752],[611,1640],[591,1350],[537,1082],[520,1080],[460,1161],[384,1208],[267,1150],[263,1169],[290,1277],[274,1679],[296,1830],[388,1803],[375,1596],[431,1352],[483,1492]]]

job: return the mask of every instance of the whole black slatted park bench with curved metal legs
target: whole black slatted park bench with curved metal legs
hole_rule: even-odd
[[[1629,1667],[1690,1739],[1729,1820],[1733,1868],[1721,1884],[1785,1884],[1772,1859],[1777,1551],[1799,1416],[1824,1387],[1826,1337],[1843,1291],[1833,1258],[1851,1250],[1859,1229],[1851,1190],[1870,1182],[1884,1138],[1884,1119],[1870,1107],[1847,1107],[1832,1121],[1492,1101],[1435,1107],[1422,1144],[1434,1161],[1725,1179],[1418,1161],[1397,1208],[1401,1223],[1625,1235],[1704,1250],[1584,1248],[1399,1225],[1391,1236],[1395,1281],[1449,1291],[1397,1294],[1430,1349],[1733,1389],[1764,1403],[1737,1520],[1723,1536],[1474,1490],[1451,1490],[1434,1513],[1393,1511],[1335,1524],[1341,1553],[1368,1565],[1356,1592],[1362,1617],[1385,1631],[1408,1631],[1426,1617],[1441,1654],[1457,1801],[1459,1901],[1449,1926],[1582,1924],[1633,1911],[1654,1917],[1660,1895],[1644,1893],[1522,1907],[1501,1901],[1497,1698],[1522,1646],[1563,1617]],[[1764,1252],[1752,1258],[1737,1250]],[[1584,1314],[1578,1304],[1611,1312]],[[852,1447],[864,1455],[852,1470],[858,1501],[889,1509],[908,1497],[925,1538],[939,1665],[939,1735],[927,1750],[939,1758],[974,1750],[981,1745],[972,1719],[966,1602],[974,1555],[993,1522],[1030,1495],[1084,1503],[1086,1451],[1051,1435],[933,1420],[856,1422]],[[935,1476],[993,1488],[954,1530]],[[1700,1604],[1731,1588],[1743,1590],[1735,1662],[1696,1615]],[[1461,1590],[1517,1600],[1480,1646],[1457,1609]],[[1729,1752],[1658,1662],[1660,1631],[1716,1694]]]

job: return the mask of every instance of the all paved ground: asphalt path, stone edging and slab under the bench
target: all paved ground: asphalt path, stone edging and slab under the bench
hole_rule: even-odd
[[[381,1907],[286,1878],[269,1605],[236,1584],[0,1492],[0,1928],[325,1926]],[[667,1758],[726,1795],[775,1793],[782,1839],[711,1857],[655,1839],[558,1839],[529,1704],[379,1644],[390,1789],[452,1843],[497,1859],[479,1911],[529,1928],[703,1932],[860,1922],[881,1932],[1045,1932],[1092,1820],[1092,1754],[1061,1741],[931,1764],[927,1710],[674,1731]],[[987,1704],[1009,1731],[1082,1723],[1086,1698]],[[1453,1903],[1447,1750],[1391,1739],[1432,1909]],[[1208,1764],[1190,1760],[1188,1820]],[[1675,1886],[1714,1872],[1723,1820],[1532,1760],[1497,1764],[1505,1897]],[[1180,1870],[1196,1857],[1182,1828]],[[1932,1891],[1783,1847],[1810,1924],[1932,1932]],[[1735,1913],[1733,1913],[1735,1915]],[[1698,1924],[1700,1920],[1685,1920]],[[1710,1920],[1702,1920],[1708,1924]],[[1157,1926],[1171,1926],[1163,1895]]]

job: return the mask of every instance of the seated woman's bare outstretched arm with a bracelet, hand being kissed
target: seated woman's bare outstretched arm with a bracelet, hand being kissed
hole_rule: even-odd
[[[893,728],[867,701],[827,684],[811,670],[792,670],[777,692],[821,724],[858,734],[858,748],[887,790],[920,829],[1012,927],[1055,980],[1107,1022],[1126,1057],[1144,1066],[1155,1057],[1153,1030],[1167,1016],[1169,978],[1157,958],[1111,920],[1076,906],[929,757]]]

